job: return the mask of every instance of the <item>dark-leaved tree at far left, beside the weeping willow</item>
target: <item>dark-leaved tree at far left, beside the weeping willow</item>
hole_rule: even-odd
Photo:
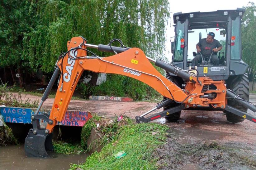
[[[0,3],[0,67],[17,69],[21,87],[22,70],[28,68],[26,56],[21,55],[22,39],[37,23],[35,7],[32,0],[5,0]]]

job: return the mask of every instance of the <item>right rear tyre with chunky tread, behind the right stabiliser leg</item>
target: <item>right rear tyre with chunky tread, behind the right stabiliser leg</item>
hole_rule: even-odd
[[[242,99],[249,101],[249,80],[247,73],[232,77],[230,80],[228,79],[227,88],[238,94]],[[240,105],[237,101],[228,100],[228,105],[247,113],[248,108]],[[226,114],[226,118],[229,122],[239,123],[244,121],[244,118],[226,110],[224,113]]]

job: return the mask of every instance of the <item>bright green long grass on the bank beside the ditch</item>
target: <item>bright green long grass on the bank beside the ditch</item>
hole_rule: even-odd
[[[101,152],[94,152],[83,164],[72,164],[70,169],[157,169],[153,152],[164,144],[167,130],[166,125],[128,122],[117,128],[113,140]],[[116,159],[114,154],[122,150],[127,155]]]

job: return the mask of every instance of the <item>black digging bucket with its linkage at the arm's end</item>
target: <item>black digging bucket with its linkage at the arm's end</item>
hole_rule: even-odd
[[[29,130],[25,139],[25,152],[28,157],[49,158],[47,150],[53,150],[52,136],[48,129],[40,127],[39,120],[52,122],[48,114],[31,115],[33,128]]]

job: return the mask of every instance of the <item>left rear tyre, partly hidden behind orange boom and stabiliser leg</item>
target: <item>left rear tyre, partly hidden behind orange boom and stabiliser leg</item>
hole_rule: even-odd
[[[177,76],[171,76],[170,74],[166,74],[165,76],[166,78],[168,78],[170,81],[172,81],[174,84],[176,84],[178,87],[181,88],[181,85],[183,82],[183,80]],[[164,97],[164,99],[166,99],[166,97]],[[172,101],[169,105],[164,106],[164,110],[168,110],[172,107],[175,107],[179,105],[178,103],[176,103],[175,101]],[[180,119],[180,114],[181,111],[175,112],[173,114],[170,114],[168,116],[165,116],[164,118],[168,121],[168,122],[177,122]]]

